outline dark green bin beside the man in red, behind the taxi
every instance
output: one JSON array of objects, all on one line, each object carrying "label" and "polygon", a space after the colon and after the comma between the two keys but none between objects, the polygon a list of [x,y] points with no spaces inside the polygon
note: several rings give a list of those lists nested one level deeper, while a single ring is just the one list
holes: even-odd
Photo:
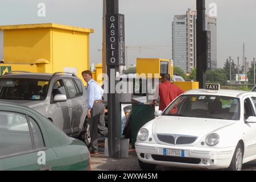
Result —
[{"label": "dark green bin beside the man in red, behind the taxi", "polygon": [[134,146],[139,129],[155,118],[155,106],[133,104],[131,107],[131,144]]}]

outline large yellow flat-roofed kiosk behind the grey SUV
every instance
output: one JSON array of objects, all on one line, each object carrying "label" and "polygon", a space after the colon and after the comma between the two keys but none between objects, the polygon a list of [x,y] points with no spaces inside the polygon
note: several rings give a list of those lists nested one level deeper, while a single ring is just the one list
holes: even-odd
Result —
[{"label": "large yellow flat-roofed kiosk behind the grey SUV", "polygon": [[89,69],[89,35],[93,32],[55,23],[0,26],[1,75],[72,72],[82,78],[82,71]]}]

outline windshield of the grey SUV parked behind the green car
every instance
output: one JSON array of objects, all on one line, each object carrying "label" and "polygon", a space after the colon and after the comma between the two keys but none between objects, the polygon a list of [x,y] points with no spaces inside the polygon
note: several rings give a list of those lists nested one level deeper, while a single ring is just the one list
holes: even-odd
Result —
[{"label": "windshield of the grey SUV parked behind the green car", "polygon": [[47,96],[49,81],[30,78],[0,79],[0,99],[42,101]]}]

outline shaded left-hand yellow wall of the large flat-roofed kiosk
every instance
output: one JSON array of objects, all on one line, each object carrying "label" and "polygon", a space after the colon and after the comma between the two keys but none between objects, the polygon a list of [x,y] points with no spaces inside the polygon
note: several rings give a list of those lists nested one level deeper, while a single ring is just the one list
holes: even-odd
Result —
[{"label": "shaded left-hand yellow wall of the large flat-roofed kiosk", "polygon": [[3,31],[5,63],[33,64],[38,59],[51,61],[50,29]]}]

